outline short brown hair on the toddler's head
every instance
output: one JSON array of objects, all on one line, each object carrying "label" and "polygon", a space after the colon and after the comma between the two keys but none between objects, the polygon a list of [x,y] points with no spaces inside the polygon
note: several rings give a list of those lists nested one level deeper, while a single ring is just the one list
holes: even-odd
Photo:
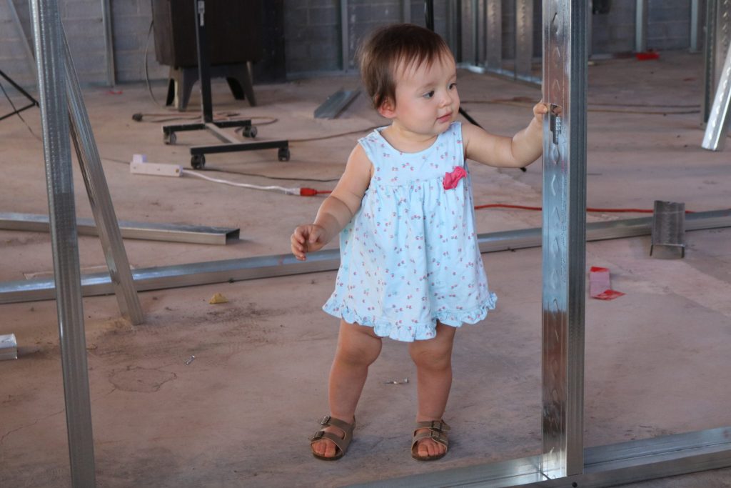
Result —
[{"label": "short brown hair on the toddler's head", "polygon": [[412,23],[397,23],[376,29],[357,50],[360,78],[374,108],[396,100],[395,69],[452,56],[439,34]]}]

